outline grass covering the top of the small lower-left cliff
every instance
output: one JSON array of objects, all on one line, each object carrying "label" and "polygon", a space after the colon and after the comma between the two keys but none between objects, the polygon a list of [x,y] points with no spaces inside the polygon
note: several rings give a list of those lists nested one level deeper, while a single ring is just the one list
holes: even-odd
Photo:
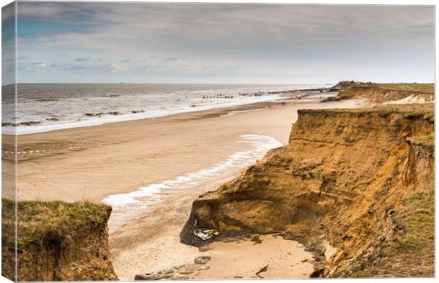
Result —
[{"label": "grass covering the top of the small lower-left cliff", "polygon": [[[13,245],[14,203],[1,200],[2,243]],[[91,202],[42,202],[21,201],[17,203],[18,249],[31,243],[59,243],[71,231],[79,227],[100,226],[106,224],[110,207],[106,204]],[[12,231],[12,232],[11,232]]]}]

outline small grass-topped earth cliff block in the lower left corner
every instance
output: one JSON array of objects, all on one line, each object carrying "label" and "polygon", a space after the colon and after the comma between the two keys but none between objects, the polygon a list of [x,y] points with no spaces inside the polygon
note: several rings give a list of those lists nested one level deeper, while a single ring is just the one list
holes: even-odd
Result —
[{"label": "small grass-topped earth cliff block in the lower left corner", "polygon": [[[17,204],[17,281],[117,280],[110,262],[111,207],[88,202]],[[14,272],[13,202],[2,200],[2,275]]]}]

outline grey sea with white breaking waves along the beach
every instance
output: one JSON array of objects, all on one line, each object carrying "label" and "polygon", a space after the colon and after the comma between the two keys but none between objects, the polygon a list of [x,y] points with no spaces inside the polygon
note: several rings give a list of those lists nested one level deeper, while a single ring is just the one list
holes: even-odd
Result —
[{"label": "grey sea with white breaking waves along the beach", "polygon": [[[54,129],[161,117],[261,101],[324,84],[18,83],[2,87],[2,133]],[[16,129],[14,126],[17,126]]]}]

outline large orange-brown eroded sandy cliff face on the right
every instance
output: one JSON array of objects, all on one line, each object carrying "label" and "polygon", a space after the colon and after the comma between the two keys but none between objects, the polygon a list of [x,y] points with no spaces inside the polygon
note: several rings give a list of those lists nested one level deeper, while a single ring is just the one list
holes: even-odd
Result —
[{"label": "large orange-brown eroded sandy cliff face on the right", "polygon": [[433,105],[300,110],[287,146],[193,202],[182,241],[285,231],[336,248],[315,276],[353,275],[394,236],[401,200],[433,188],[432,135]]}]

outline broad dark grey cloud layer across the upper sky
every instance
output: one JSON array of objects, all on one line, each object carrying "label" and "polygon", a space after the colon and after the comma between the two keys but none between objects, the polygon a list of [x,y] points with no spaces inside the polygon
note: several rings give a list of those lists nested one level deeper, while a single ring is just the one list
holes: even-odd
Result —
[{"label": "broad dark grey cloud layer across the upper sky", "polygon": [[[71,4],[64,13],[59,9],[52,13],[55,18],[60,13],[73,16],[86,6]],[[122,56],[285,60],[346,57],[341,47],[367,54],[370,45],[392,48],[404,40],[412,45],[433,37],[428,7],[106,3],[91,5],[89,11],[93,16],[82,16],[86,21],[108,24],[93,25],[87,36],[72,30],[35,41]]]}]

